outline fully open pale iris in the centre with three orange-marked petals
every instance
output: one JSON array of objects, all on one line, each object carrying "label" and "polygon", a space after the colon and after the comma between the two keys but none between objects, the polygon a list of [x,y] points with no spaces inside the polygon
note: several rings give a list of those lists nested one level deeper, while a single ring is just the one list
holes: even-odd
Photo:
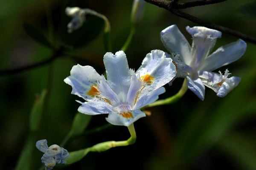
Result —
[{"label": "fully open pale iris in the centre with three orange-marked petals", "polygon": [[97,115],[108,113],[107,121],[113,125],[129,126],[145,116],[140,111],[165,92],[162,86],[176,75],[176,67],[165,52],[153,50],[147,54],[142,66],[134,72],[129,69],[123,51],[104,56],[107,80],[91,66],[75,65],[64,82],[71,85],[71,94],[86,100],[78,111]]}]

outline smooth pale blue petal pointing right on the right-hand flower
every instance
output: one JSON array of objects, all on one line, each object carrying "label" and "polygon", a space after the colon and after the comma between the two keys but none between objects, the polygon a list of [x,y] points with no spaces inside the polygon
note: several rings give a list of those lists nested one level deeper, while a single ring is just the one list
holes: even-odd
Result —
[{"label": "smooth pale blue petal pointing right on the right-hand flower", "polygon": [[236,42],[218,48],[204,60],[199,70],[212,71],[238,60],[244,55],[246,46],[246,42],[239,39]]}]

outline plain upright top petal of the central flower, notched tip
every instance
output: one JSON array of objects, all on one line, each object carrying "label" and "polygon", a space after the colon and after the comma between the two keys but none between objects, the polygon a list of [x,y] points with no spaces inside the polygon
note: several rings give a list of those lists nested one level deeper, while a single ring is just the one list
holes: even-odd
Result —
[{"label": "plain upright top petal of the central flower, notched tip", "polygon": [[106,53],[103,62],[110,88],[117,95],[127,94],[131,85],[131,74],[124,51],[118,51],[115,55],[110,52]]}]

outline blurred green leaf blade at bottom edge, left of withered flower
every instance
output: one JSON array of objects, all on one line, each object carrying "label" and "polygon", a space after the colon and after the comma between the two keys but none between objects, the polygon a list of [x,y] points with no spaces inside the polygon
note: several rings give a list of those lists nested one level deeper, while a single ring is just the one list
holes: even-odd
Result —
[{"label": "blurred green leaf blade at bottom edge, left of withered flower", "polygon": [[35,139],[30,135],[23,147],[15,170],[29,170],[33,150],[35,150]]}]

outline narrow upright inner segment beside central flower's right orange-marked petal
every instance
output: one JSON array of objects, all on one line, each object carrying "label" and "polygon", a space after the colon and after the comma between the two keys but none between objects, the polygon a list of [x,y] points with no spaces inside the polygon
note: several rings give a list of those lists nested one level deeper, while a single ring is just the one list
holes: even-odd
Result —
[{"label": "narrow upright inner segment beside central flower's right orange-marked petal", "polygon": [[133,75],[131,77],[131,86],[127,94],[127,102],[131,105],[131,107],[134,106],[136,96],[139,95],[140,93],[139,91],[141,90],[142,85],[143,85],[143,82],[141,82],[136,75]]}]

